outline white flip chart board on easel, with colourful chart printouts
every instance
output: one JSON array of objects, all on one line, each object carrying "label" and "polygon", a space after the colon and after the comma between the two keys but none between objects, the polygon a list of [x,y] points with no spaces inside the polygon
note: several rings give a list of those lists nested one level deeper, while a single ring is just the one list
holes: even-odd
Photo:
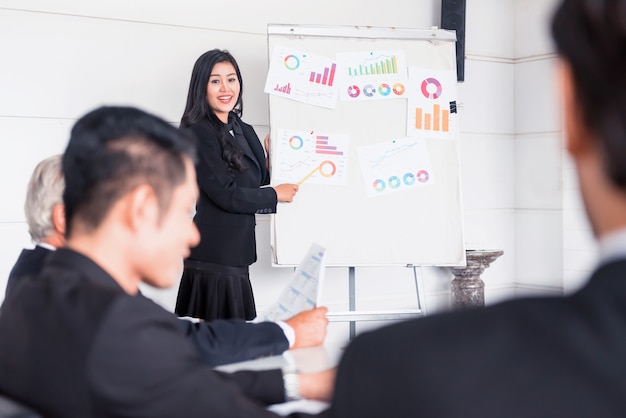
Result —
[{"label": "white flip chart board on easel, with colourful chart printouts", "polygon": [[[287,171],[285,164],[292,168],[298,163],[305,168],[300,177],[293,181],[300,185],[293,203],[279,204],[277,213],[271,218],[273,265],[296,265],[312,242],[320,243],[328,249],[327,266],[347,267],[349,272],[350,312],[331,313],[331,320],[350,321],[353,328],[356,320],[403,319],[422,315],[424,303],[420,267],[465,265],[458,128],[454,124],[456,102],[435,103],[436,100],[433,100],[432,108],[408,109],[410,101],[407,99],[374,100],[374,96],[390,95],[393,91],[391,96],[401,96],[406,92],[408,97],[409,94],[421,91],[430,99],[436,99],[450,91],[450,86],[440,83],[437,77],[445,72],[455,74],[455,33],[438,29],[310,25],[268,25],[267,30],[270,67],[276,58],[276,51],[285,51],[284,57],[278,58],[288,70],[293,70],[293,74],[302,70],[307,59],[313,56],[328,60],[329,64],[324,68],[318,65],[306,69],[312,83],[328,86],[333,82],[339,83],[342,74],[346,76],[346,71],[351,74],[361,71],[342,69],[332,60],[341,54],[367,51],[371,51],[375,57],[387,57],[379,59],[380,65],[386,65],[383,72],[409,72],[409,69],[414,68],[432,72],[432,75],[419,80],[418,84],[389,84],[380,81],[379,77],[376,85],[357,85],[355,82],[349,87],[350,97],[356,97],[357,91],[359,94],[367,92],[372,100],[366,100],[368,97],[361,95],[359,100],[354,101],[324,101],[324,97],[321,97],[324,92],[321,92],[316,93],[320,96],[316,97],[319,102],[311,104],[298,100],[302,97],[297,95],[313,93],[292,88],[290,83],[278,82],[272,87],[274,93],[280,94],[270,92],[268,95],[272,184],[279,184],[281,170],[282,173]],[[406,60],[406,67],[395,67],[400,58]],[[456,77],[454,83],[456,87]],[[436,91],[426,91],[426,88],[432,86],[437,87]],[[341,91],[345,93],[345,89]],[[445,117],[440,116],[444,112]],[[420,119],[423,114],[424,119]],[[432,126],[441,129],[440,122],[442,125],[445,123],[446,130],[449,128],[447,139],[433,134]],[[414,141],[409,144],[404,139],[411,126],[414,131],[421,129],[423,134],[413,135]],[[299,149],[307,139],[301,137],[305,135],[292,135],[290,132],[310,133],[322,147],[342,147],[343,165],[335,167],[343,170],[340,173],[342,181],[324,183],[325,176],[335,174],[329,172],[328,167],[322,167],[325,162],[311,164],[304,158],[295,162],[281,160],[281,151],[285,148],[280,147],[289,144]],[[362,164],[359,153],[364,151],[363,147],[375,149],[380,144],[395,144],[395,141],[401,146],[380,151],[381,158],[388,158],[392,152],[402,157],[409,152],[409,146],[419,146],[421,151],[415,155],[428,155],[432,171],[385,178],[384,181],[388,182],[386,191],[391,190],[389,187],[404,187],[405,184],[407,191],[381,193],[372,197],[372,183],[359,170]],[[338,175],[332,180],[337,178]],[[404,179],[404,183],[401,179]],[[408,185],[423,186],[418,182],[428,183],[427,187],[413,187],[409,190]],[[378,187],[376,182],[373,187]],[[397,312],[356,311],[355,267],[361,266],[412,268],[417,308]]]}]

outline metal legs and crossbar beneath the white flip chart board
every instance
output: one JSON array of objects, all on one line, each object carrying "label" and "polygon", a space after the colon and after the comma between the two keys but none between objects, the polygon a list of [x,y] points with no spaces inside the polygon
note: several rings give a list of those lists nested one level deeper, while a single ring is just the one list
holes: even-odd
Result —
[{"label": "metal legs and crossbar beneath the white flip chart board", "polygon": [[[328,312],[326,315],[331,322],[350,322],[350,340],[356,336],[357,321],[397,321],[411,319],[425,315],[424,303],[424,283],[421,267],[408,264],[407,268],[413,269],[413,280],[415,281],[415,295],[417,299],[416,309],[401,310],[380,310],[380,311],[357,311],[356,310],[356,271],[355,267],[348,267],[348,312]],[[419,271],[418,271],[419,268]]]}]

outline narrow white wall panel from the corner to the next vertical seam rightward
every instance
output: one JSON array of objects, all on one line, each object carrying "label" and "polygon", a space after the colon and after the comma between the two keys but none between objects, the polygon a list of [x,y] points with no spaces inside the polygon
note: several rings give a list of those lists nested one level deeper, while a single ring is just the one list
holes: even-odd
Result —
[{"label": "narrow white wall panel from the corner to the next vertical seam rightward", "polygon": [[559,103],[546,1],[516,4],[516,285],[520,294],[562,293],[562,158]]}]

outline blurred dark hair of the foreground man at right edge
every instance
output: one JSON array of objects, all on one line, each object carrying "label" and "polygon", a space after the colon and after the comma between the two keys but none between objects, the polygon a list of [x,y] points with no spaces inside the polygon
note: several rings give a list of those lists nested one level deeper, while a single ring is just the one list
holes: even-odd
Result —
[{"label": "blurred dark hair of the foreground man at right edge", "polygon": [[552,36],[571,67],[581,117],[603,149],[607,174],[626,189],[626,1],[563,0]]}]

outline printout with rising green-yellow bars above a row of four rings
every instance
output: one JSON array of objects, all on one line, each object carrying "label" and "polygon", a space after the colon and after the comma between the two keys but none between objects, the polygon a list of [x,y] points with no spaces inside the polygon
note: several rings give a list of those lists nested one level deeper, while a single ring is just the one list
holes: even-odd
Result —
[{"label": "printout with rising green-yellow bars above a row of four rings", "polygon": [[406,97],[407,66],[404,51],[343,52],[336,57],[341,100]]}]

